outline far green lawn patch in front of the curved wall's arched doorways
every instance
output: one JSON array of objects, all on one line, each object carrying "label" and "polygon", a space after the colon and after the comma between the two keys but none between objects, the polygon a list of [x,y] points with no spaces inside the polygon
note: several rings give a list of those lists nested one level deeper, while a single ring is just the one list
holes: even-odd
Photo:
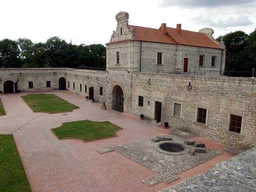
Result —
[{"label": "far green lawn patch in front of the curved wall's arched doorways", "polygon": [[54,94],[30,94],[21,97],[34,112],[70,112],[79,108]]}]

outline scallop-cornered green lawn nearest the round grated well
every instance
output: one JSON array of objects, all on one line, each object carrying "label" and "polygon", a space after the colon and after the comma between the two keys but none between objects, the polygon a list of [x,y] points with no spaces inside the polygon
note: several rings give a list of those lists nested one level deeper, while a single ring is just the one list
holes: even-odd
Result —
[{"label": "scallop-cornered green lawn nearest the round grated well", "polygon": [[58,138],[78,138],[84,141],[116,136],[116,131],[122,128],[108,122],[94,122],[89,120],[63,123],[52,129]]}]

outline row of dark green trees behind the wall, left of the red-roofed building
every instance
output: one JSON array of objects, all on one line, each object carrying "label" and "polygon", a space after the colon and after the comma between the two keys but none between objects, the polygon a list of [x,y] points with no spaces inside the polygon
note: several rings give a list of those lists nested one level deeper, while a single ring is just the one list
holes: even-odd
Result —
[{"label": "row of dark green trees behind the wall, left of the red-roofed building", "polygon": [[33,43],[26,38],[0,41],[0,68],[78,68],[88,66],[106,68],[106,47],[73,45],[58,37],[45,43]]}]

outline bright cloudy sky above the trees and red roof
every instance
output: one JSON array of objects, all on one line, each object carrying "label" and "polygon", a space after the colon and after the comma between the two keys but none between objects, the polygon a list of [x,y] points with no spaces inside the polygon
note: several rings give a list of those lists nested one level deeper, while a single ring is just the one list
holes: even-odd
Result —
[{"label": "bright cloudy sky above the trees and red roof", "polygon": [[256,28],[256,0],[2,0],[0,40],[28,38],[46,42],[58,36],[73,44],[106,44],[116,30],[118,12],[129,24],[159,28],[161,23],[198,32],[209,27],[214,38]]}]

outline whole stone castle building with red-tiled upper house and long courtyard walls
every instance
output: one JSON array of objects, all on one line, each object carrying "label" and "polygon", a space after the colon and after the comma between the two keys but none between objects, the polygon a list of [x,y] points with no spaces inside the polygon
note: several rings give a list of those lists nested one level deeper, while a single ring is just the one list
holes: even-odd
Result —
[{"label": "whole stone castle building with red-tiled upper house and long courtyard walls", "polygon": [[66,89],[106,102],[108,108],[143,114],[155,124],[168,122],[172,128],[237,148],[256,146],[256,80],[221,75],[224,44],[212,38],[213,31],[130,26],[128,16],[116,15],[106,71],[0,69],[0,92]]}]

